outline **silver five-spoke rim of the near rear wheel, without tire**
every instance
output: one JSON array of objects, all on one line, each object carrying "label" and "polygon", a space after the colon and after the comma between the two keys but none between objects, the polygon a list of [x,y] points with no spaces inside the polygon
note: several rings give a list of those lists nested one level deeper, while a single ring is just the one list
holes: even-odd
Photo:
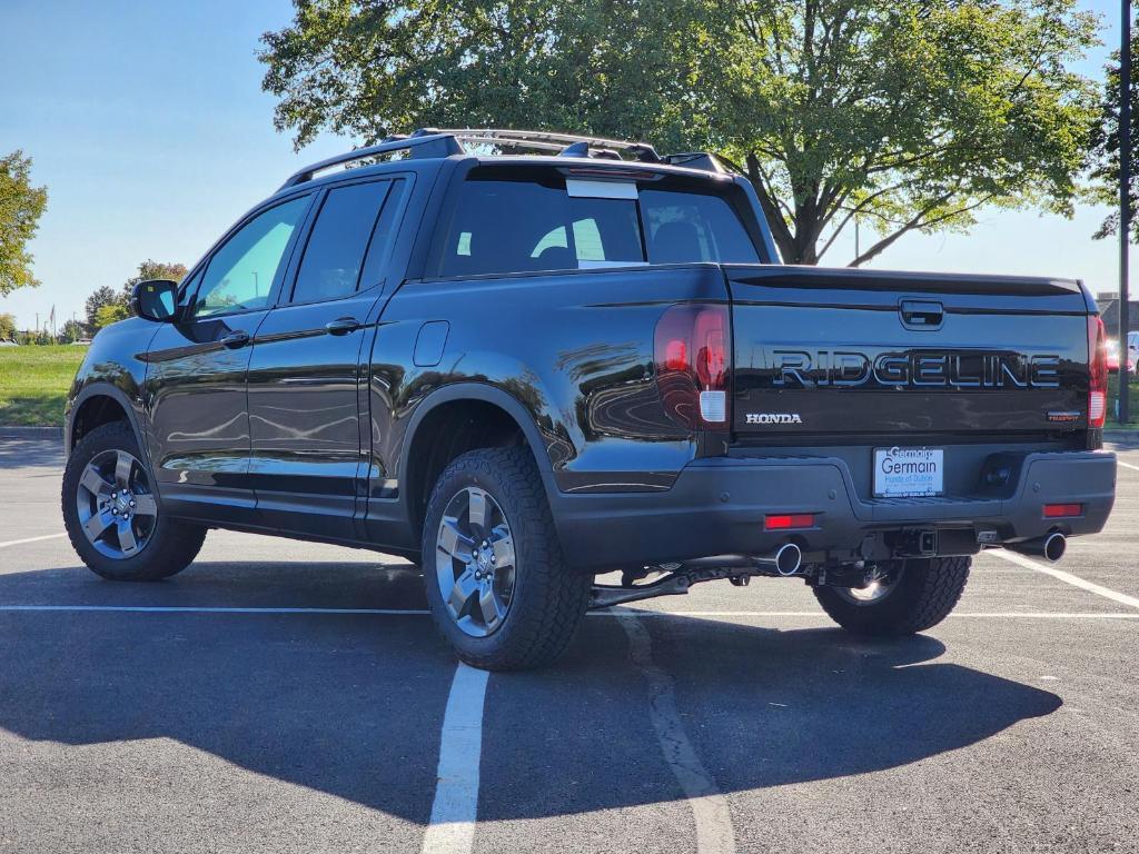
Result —
[{"label": "silver five-spoke rim of the near rear wheel, without tire", "polygon": [[443,606],[466,634],[485,638],[506,622],[517,578],[514,536],[486,490],[467,486],[448,503],[435,536],[435,574]]}]

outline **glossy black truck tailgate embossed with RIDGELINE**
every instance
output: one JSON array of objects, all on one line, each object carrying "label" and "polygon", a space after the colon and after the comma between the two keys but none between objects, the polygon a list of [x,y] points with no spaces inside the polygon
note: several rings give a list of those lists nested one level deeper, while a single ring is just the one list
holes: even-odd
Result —
[{"label": "glossy black truck tailgate embossed with RIDGELINE", "polygon": [[1089,305],[1074,281],[724,272],[740,438],[920,444],[923,434],[1016,441],[1087,429]]}]

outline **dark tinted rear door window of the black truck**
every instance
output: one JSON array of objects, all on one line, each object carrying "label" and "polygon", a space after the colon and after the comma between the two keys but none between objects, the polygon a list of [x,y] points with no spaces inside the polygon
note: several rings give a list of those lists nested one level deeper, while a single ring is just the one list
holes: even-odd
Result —
[{"label": "dark tinted rear door window of the black truck", "polygon": [[304,249],[292,302],[319,303],[357,291],[368,248],[382,239],[376,227],[390,188],[391,181],[369,181],[328,191]]}]

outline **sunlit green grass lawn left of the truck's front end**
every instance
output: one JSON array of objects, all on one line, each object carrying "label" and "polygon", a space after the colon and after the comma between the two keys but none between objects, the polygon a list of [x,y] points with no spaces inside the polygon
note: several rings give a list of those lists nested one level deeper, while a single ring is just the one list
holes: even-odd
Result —
[{"label": "sunlit green grass lawn left of the truck's front end", "polygon": [[64,401],[87,347],[0,347],[0,425],[63,427]]}]

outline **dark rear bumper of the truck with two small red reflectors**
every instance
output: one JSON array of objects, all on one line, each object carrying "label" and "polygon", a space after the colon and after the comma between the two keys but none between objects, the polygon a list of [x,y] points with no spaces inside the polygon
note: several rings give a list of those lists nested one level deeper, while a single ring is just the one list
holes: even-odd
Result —
[{"label": "dark rear bumper of the truck with two small red reflectors", "polygon": [[[567,561],[581,568],[645,566],[714,555],[767,555],[796,542],[804,563],[885,559],[907,531],[935,529],[940,555],[1015,543],[1060,531],[1100,531],[1115,501],[1115,454],[1029,453],[1015,487],[994,498],[869,501],[836,458],[710,458],[661,492],[551,496]],[[1046,503],[1079,503],[1073,518],[1046,519]],[[813,514],[814,526],[767,532],[768,514]]]}]

